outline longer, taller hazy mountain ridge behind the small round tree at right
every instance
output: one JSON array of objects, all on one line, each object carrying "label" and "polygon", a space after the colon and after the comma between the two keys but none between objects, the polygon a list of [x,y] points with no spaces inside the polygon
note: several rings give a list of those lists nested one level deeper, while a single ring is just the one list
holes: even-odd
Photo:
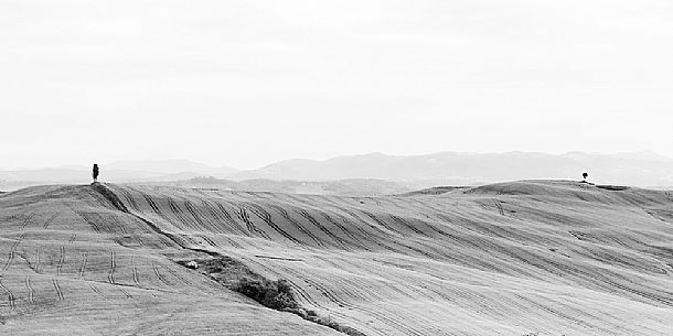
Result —
[{"label": "longer, taller hazy mountain ridge behind the small round tree at right", "polygon": [[637,186],[673,185],[673,160],[651,152],[613,155],[570,152],[562,155],[442,152],[426,155],[338,156],[325,161],[288,160],[231,175],[231,180],[332,181],[376,178],[387,181],[429,180],[449,184],[476,184],[524,178],[590,180]]}]

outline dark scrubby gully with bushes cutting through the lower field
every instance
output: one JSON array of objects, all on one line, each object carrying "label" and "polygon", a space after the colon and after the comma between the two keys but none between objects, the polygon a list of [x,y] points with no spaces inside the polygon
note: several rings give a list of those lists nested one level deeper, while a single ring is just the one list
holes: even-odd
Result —
[{"label": "dark scrubby gully with bushes cutting through the lower field", "polygon": [[351,336],[366,336],[364,333],[339,324],[330,317],[319,316],[314,311],[301,307],[295,290],[284,279],[269,280],[250,270],[245,263],[213,251],[191,249],[207,253],[213,258],[177,260],[178,264],[211,278],[223,286],[236,291],[257,303],[280,312],[292,313],[306,321],[317,323]]}]

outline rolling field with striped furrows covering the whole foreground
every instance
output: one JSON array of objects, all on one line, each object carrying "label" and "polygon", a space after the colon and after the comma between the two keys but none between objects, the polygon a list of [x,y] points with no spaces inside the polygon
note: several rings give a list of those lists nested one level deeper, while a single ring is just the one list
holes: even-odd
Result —
[{"label": "rolling field with striped furrows covering the whole foreground", "polygon": [[248,277],[353,335],[673,335],[673,193],[0,194],[1,335],[345,335],[232,290]]}]

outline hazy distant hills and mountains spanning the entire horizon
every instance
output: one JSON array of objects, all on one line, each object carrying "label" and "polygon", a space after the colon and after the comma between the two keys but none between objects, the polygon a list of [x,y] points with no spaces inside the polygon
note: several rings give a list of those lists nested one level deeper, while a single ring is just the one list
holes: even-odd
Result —
[{"label": "hazy distant hills and mountains spanning the entire horizon", "polygon": [[[383,180],[421,185],[474,185],[530,180],[580,180],[581,173],[599,183],[634,186],[673,186],[673,159],[653,152],[599,154],[569,152],[457,153],[425,155],[338,156],[324,161],[295,159],[257,170],[238,171],[188,160],[118,161],[100,164],[100,178],[107,182],[175,182],[213,176],[229,181],[339,181]],[[40,170],[0,171],[0,189],[35,184],[87,183],[90,167],[58,166]]]}]

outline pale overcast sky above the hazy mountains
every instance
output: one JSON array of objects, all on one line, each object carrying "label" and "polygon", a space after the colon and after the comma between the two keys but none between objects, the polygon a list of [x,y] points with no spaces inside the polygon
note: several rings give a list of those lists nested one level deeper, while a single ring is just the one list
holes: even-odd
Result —
[{"label": "pale overcast sky above the hazy mountains", "polygon": [[670,0],[0,1],[0,167],[673,156]]}]

